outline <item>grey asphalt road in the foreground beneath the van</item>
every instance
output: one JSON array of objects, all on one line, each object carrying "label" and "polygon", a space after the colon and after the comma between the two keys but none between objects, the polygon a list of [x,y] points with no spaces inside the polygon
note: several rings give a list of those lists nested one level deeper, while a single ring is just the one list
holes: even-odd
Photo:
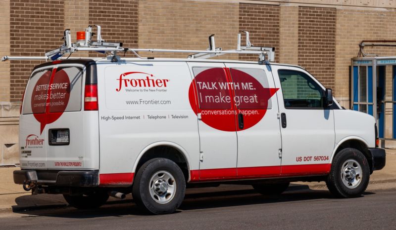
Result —
[{"label": "grey asphalt road in the foreground beneath the van", "polygon": [[[228,188],[230,189],[230,188]],[[187,194],[170,215],[144,215],[132,202],[96,210],[71,207],[0,214],[2,229],[395,229],[396,191],[333,198],[326,190],[292,190],[278,196],[251,189]]]}]

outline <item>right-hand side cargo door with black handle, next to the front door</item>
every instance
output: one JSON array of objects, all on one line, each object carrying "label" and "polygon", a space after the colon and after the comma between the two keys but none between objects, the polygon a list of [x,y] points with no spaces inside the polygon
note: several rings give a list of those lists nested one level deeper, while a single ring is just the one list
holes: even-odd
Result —
[{"label": "right-hand side cargo door with black handle, next to the front door", "polygon": [[278,102],[273,77],[265,65],[226,63],[237,119],[238,177],[265,177],[281,172]]}]

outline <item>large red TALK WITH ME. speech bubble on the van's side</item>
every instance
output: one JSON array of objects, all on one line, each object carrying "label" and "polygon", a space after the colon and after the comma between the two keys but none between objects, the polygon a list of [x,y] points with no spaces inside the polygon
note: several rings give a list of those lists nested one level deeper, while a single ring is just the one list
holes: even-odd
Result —
[{"label": "large red TALK WITH ME. speech bubble on the van's side", "polygon": [[[224,74],[232,82],[223,79]],[[205,124],[222,131],[240,131],[236,125],[238,114],[245,116],[243,130],[254,126],[264,117],[268,100],[278,89],[265,88],[256,78],[237,69],[210,68],[191,82],[189,100]]]}]

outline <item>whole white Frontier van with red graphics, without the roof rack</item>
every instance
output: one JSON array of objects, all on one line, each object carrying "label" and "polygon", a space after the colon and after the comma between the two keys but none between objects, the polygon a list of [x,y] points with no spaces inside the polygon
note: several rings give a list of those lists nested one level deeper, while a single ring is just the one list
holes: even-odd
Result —
[{"label": "whole white Frontier van with red graphics, without the roof rack", "polygon": [[60,59],[29,77],[14,182],[77,208],[132,192],[154,214],[174,212],[186,187],[221,183],[279,194],[326,181],[335,196],[356,197],[385,166],[376,130],[298,66]]}]

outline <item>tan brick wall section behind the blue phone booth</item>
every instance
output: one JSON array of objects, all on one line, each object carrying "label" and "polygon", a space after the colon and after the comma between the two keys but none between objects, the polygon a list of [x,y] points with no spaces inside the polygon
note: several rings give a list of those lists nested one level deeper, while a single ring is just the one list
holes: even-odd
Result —
[{"label": "tan brick wall section behind the blue phone booth", "polygon": [[[342,105],[349,108],[349,73],[350,59],[356,57],[359,42],[362,40],[395,40],[396,12],[376,10],[337,9],[336,38],[336,97]],[[396,47],[365,47],[365,53],[379,56],[395,56]],[[392,93],[391,68],[386,69],[387,98]],[[387,123],[388,124],[388,123]]]}]

